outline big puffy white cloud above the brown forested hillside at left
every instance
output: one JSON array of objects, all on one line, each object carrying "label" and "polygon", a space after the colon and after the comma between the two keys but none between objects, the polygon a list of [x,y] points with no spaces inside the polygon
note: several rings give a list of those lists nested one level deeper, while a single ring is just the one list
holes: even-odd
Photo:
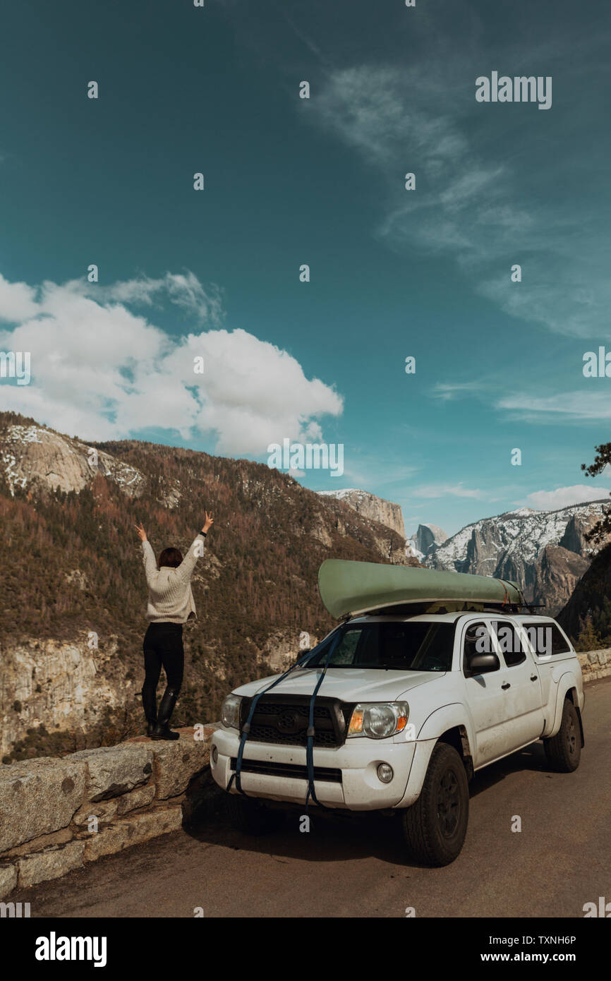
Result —
[{"label": "big puffy white cloud above the brown forested hillside at left", "polygon": [[[124,439],[145,428],[182,439],[213,434],[220,452],[261,457],[270,442],[322,439],[321,418],[342,412],[335,390],[307,379],[274,344],[243,330],[169,336],[127,309],[129,302],[146,302],[147,294],[161,302],[165,290],[170,302],[179,296],[181,305],[192,303],[203,315],[206,294],[193,274],[115,284],[90,295],[81,283],[44,283],[38,290],[17,284],[17,291],[3,284],[0,319],[21,312],[24,320],[0,332],[0,347],[29,351],[32,379],[28,386],[0,387],[2,408],[54,429],[92,440]],[[209,309],[208,319],[221,313]],[[204,374],[194,374],[193,359],[202,356]]]}]

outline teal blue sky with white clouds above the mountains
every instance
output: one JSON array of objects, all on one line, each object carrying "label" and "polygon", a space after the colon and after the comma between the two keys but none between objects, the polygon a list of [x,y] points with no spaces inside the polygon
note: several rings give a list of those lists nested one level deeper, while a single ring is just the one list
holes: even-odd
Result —
[{"label": "teal blue sky with white clouds above the mountains", "polygon": [[[260,461],[342,443],[340,478],[298,479],[409,532],[607,495],[581,472],[611,418],[583,375],[611,350],[607,4],[65,0],[3,27],[0,349],[31,352],[3,408]],[[492,71],[552,77],[551,108],[478,103]]]}]

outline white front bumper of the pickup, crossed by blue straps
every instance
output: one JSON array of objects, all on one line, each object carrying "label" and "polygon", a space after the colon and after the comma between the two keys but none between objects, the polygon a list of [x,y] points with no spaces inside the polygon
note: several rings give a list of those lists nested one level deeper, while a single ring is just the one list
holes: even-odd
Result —
[{"label": "white front bumper of the pickup, crossed by blue straps", "polygon": [[[415,743],[358,738],[335,749],[314,749],[316,796],[328,807],[378,810],[394,807],[405,796]],[[216,749],[216,752],[214,751]],[[210,768],[219,787],[227,790],[239,749],[235,729],[217,729],[211,740]],[[216,756],[216,759],[215,759]],[[381,763],[392,767],[393,776],[382,783]],[[246,741],[242,757],[242,790],[251,797],[305,803],[308,792],[306,750]],[[231,794],[236,794],[235,780]]]}]

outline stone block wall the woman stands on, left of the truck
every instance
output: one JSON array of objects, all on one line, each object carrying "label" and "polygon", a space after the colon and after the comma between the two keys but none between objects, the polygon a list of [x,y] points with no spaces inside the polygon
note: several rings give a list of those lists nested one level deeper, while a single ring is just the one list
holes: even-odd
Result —
[{"label": "stone block wall the woman stands on, left of the truck", "polygon": [[0,899],[188,825],[216,786],[218,726],[0,765]]}]

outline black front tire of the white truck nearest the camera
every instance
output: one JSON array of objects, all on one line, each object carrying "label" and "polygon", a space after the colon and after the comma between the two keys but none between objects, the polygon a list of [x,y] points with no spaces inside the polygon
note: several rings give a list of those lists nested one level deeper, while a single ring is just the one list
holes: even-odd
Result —
[{"label": "black front tire of the white truck nearest the camera", "polygon": [[401,815],[410,854],[423,865],[449,865],[469,823],[469,782],[456,749],[437,743],[420,797]]}]

